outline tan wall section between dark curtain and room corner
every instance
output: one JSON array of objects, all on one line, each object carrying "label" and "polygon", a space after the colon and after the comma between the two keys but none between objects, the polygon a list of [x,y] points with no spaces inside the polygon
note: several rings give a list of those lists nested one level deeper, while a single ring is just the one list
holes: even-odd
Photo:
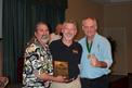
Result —
[{"label": "tan wall section between dark curtain and room corner", "polygon": [[103,5],[88,2],[89,0],[68,0],[68,9],[66,11],[66,20],[77,21],[79,24],[78,38],[82,37],[81,21],[88,16],[96,17],[100,22],[100,27],[103,27]]}]

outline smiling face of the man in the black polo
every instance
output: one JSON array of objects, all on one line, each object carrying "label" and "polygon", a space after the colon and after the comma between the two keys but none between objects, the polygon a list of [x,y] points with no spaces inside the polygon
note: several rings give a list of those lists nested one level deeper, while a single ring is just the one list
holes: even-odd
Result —
[{"label": "smiling face of the man in the black polo", "polygon": [[72,40],[77,34],[76,25],[74,23],[64,23],[62,33],[65,40]]}]

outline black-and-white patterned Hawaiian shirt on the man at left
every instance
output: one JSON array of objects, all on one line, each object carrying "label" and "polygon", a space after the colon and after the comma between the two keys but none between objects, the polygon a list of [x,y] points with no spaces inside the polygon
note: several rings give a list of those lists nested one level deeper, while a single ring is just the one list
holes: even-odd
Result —
[{"label": "black-and-white patterned Hawaiian shirt on the man at left", "polygon": [[23,68],[24,88],[45,88],[44,81],[37,78],[35,74],[53,74],[52,55],[48,47],[42,47],[35,38],[25,50]]}]

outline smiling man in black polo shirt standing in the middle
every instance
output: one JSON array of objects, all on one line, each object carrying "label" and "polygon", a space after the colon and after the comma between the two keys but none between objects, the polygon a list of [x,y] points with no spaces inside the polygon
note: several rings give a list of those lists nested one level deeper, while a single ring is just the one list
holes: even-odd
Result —
[{"label": "smiling man in black polo shirt standing in the middle", "polygon": [[50,43],[50,50],[53,61],[68,63],[68,78],[64,83],[53,81],[50,88],[81,88],[78,75],[82,48],[74,40],[77,34],[76,24],[74,22],[65,22],[62,34],[62,39]]}]

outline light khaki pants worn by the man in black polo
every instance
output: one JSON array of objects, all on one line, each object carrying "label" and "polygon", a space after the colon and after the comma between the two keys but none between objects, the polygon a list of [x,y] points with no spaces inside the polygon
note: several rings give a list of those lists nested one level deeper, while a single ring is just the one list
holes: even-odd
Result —
[{"label": "light khaki pants worn by the man in black polo", "polygon": [[77,78],[71,83],[67,83],[67,84],[53,81],[50,88],[81,88],[80,78]]}]

